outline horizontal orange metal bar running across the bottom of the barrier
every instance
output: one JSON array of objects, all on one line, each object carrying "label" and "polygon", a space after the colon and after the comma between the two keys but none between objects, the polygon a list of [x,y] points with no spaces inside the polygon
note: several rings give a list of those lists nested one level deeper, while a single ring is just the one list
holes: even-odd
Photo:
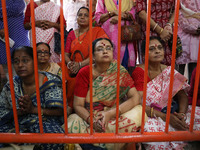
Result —
[{"label": "horizontal orange metal bar running across the bottom of the barrier", "polygon": [[0,143],[132,143],[161,141],[200,141],[200,131],[144,132],[137,133],[1,133]]}]

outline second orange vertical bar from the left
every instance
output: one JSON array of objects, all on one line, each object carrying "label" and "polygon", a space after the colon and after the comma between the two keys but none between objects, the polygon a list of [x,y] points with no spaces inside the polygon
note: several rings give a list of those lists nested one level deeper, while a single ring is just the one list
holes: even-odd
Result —
[{"label": "second orange vertical bar from the left", "polygon": [[34,73],[35,73],[35,87],[37,97],[37,108],[40,125],[40,133],[43,133],[42,115],[41,115],[41,103],[40,103],[40,90],[39,90],[39,78],[38,78],[38,63],[37,63],[37,50],[36,50],[36,34],[35,34],[35,14],[34,14],[34,1],[30,0],[31,6],[31,26],[32,26],[32,43],[33,43],[33,58],[34,58]]}]

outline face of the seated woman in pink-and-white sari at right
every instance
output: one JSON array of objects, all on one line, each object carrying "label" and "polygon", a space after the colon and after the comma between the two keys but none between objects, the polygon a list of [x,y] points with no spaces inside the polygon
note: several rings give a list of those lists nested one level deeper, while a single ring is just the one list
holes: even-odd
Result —
[{"label": "face of the seated woman in pink-and-white sari at right", "polygon": [[154,39],[149,42],[149,61],[162,62],[164,59],[164,47],[162,44]]}]

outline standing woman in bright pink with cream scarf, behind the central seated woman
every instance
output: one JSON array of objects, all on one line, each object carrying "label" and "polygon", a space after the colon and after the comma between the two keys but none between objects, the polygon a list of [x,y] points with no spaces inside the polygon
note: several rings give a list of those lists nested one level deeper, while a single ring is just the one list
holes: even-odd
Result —
[{"label": "standing woman in bright pink with cream scarf, behind the central seated woman", "polygon": [[[108,37],[113,42],[114,59],[117,59],[118,47],[118,0],[98,0],[95,12],[95,19],[99,25],[105,30]],[[133,1],[122,0],[122,23],[125,21],[130,24],[131,16],[135,17],[135,8]],[[134,67],[136,64],[136,52],[133,42],[121,43],[120,62],[126,69]]]}]

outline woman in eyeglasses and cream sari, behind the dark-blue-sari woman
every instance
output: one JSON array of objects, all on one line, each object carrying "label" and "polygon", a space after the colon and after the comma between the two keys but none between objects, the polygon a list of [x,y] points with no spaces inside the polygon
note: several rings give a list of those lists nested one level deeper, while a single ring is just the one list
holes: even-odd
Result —
[{"label": "woman in eyeglasses and cream sari, behind the dark-blue-sari woman", "polygon": [[38,70],[46,71],[62,77],[62,70],[57,63],[50,62],[50,46],[47,43],[39,42],[36,45],[38,56]]}]

